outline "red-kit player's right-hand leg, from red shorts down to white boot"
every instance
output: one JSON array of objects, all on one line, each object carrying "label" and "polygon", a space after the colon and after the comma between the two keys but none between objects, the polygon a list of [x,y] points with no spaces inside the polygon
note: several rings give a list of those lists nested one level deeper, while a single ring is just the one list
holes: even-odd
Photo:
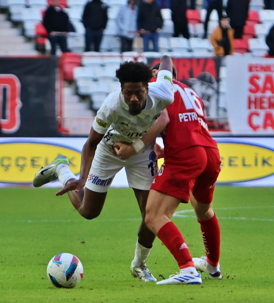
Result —
[{"label": "red-kit player's right-hand leg, from red shorts down to white boot", "polygon": [[211,204],[221,161],[217,149],[205,148],[205,150],[208,164],[193,186],[190,201],[200,223],[206,257],[193,258],[193,261],[196,269],[206,272],[209,279],[221,279],[220,225]]}]

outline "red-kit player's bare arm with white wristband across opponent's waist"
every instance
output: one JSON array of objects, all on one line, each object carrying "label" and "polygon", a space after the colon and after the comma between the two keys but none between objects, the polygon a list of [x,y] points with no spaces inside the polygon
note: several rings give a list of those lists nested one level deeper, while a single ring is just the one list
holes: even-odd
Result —
[{"label": "red-kit player's bare arm with white wristband across opponent's waist", "polygon": [[160,117],[153,124],[151,128],[142,136],[141,139],[130,143],[114,142],[113,148],[117,153],[118,157],[122,160],[128,159],[129,157],[138,153],[145,145],[155,140],[158,135],[166,128],[170,119],[167,110],[163,110]]}]

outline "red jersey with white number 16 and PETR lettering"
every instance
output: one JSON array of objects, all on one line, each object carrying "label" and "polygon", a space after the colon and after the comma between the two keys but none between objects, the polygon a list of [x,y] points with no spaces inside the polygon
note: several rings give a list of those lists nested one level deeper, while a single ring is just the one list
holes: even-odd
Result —
[{"label": "red jersey with white number 16 and PETR lettering", "polygon": [[180,162],[180,151],[190,146],[218,148],[208,131],[202,99],[187,85],[173,83],[174,102],[167,106],[170,123],[162,134],[165,163]]}]

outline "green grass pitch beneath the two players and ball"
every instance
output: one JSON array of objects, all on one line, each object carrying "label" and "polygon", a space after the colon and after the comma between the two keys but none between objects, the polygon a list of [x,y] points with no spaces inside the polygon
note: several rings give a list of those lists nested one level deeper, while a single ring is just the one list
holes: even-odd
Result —
[{"label": "green grass pitch beneath the two players and ball", "polygon": [[[202,285],[155,285],[133,278],[140,214],[132,189],[109,190],[101,215],[82,218],[66,195],[52,188],[1,188],[1,303],[268,303],[274,302],[274,188],[217,186],[213,207],[221,226],[222,280]],[[191,255],[204,254],[191,205],[180,205],[174,223]],[[57,289],[46,267],[58,253],[75,254],[84,279],[74,289]],[[159,280],[178,271],[156,238],[147,260]]]}]

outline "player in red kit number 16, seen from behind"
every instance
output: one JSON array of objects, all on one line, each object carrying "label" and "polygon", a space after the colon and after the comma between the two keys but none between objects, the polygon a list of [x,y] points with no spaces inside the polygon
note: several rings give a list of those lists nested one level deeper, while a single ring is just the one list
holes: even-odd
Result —
[{"label": "player in red kit number 16, seen from behind", "polygon": [[[176,70],[173,76],[176,79]],[[201,284],[197,270],[206,272],[209,279],[222,278],[220,226],[211,206],[221,161],[217,142],[208,131],[202,99],[187,85],[176,80],[173,83],[174,102],[139,139],[139,144],[116,142],[114,150],[125,159],[142,152],[142,146],[163,131],[165,161],[150,188],[145,223],[174,256],[180,273],[156,284]],[[201,258],[191,258],[184,237],[170,220],[178,205],[189,200],[206,250]]]}]

